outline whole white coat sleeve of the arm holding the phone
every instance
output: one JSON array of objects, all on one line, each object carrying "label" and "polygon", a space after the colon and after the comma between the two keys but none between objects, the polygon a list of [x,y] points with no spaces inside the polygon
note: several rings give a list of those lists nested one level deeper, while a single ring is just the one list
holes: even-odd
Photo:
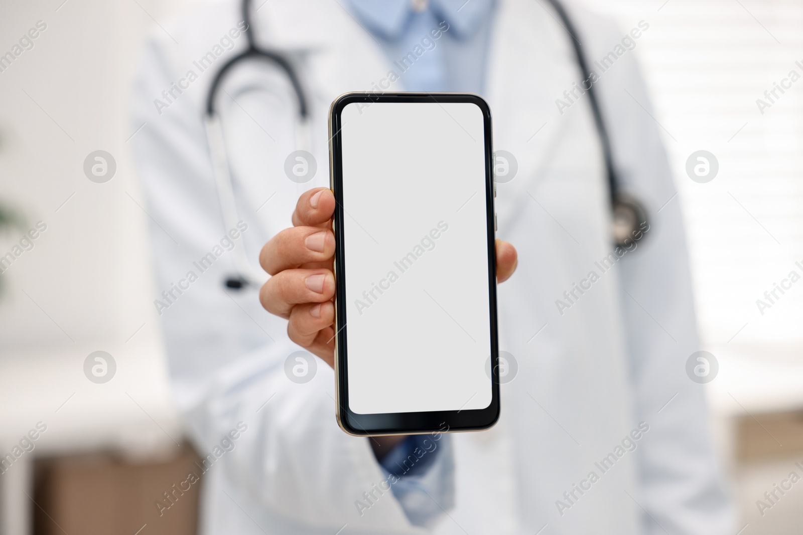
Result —
[{"label": "whole white coat sleeve of the arm holding the phone", "polygon": [[[171,28],[181,47],[191,31],[198,33],[187,26],[187,34]],[[416,533],[392,493],[381,491],[386,476],[369,441],[336,424],[332,369],[309,355],[316,375],[292,382],[285,361],[300,347],[287,339],[286,322],[269,318],[255,291],[229,293],[222,285],[233,264],[226,246],[219,255],[215,249],[228,229],[202,126],[211,76],[169,102],[161,95],[191,64],[181,47],[159,37],[147,43],[132,99],[132,126],[142,127],[132,145],[145,191],[141,205],[153,231],[157,291],[172,297],[154,296],[190,438],[252,516],[269,510],[328,533],[347,523],[349,533]],[[259,229],[250,228],[235,246],[259,243],[258,236]],[[196,264],[206,253],[213,263],[200,270]],[[191,282],[190,271],[196,276]],[[185,289],[171,294],[181,280]],[[228,498],[218,492],[218,500]],[[222,505],[206,501],[204,507]]]}]

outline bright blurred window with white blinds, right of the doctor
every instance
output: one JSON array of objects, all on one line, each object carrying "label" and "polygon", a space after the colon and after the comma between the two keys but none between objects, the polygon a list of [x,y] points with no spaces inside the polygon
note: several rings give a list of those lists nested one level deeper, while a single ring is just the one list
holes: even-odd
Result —
[{"label": "bright blurred window with white blinds, right of the doctor", "polygon": [[[764,314],[756,306],[790,271],[803,275],[803,80],[764,114],[756,105],[789,71],[803,75],[803,2],[581,1],[624,29],[650,24],[634,53],[686,218],[700,349],[719,359],[716,410],[803,406],[803,281]],[[698,150],[719,161],[703,184],[686,172]]]}]

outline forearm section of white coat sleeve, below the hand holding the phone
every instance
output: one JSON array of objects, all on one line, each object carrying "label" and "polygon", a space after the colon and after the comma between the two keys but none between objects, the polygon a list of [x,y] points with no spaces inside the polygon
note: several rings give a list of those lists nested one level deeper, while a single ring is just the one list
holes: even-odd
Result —
[{"label": "forearm section of white coat sleeve, below the hand holding the phone", "polygon": [[247,431],[221,457],[238,501],[332,533],[344,524],[357,533],[415,533],[369,441],[337,427],[332,369],[318,360],[312,381],[291,382],[284,355],[298,348],[283,343],[285,351],[258,350],[219,371],[187,411],[202,456],[242,422]]}]

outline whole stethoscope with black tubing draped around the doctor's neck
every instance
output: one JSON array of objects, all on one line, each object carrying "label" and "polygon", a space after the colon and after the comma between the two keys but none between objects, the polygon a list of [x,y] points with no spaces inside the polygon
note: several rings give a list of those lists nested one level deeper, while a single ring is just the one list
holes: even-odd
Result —
[{"label": "whole stethoscope with black tubing draped around the doctor's neck", "polygon": [[[580,67],[583,75],[588,78],[590,75],[588,64],[585,62],[585,56],[581,51],[580,43],[577,39],[574,39],[574,35],[577,34],[577,31],[569,18],[569,14],[566,13],[566,10],[559,0],[547,1],[552,5],[560,17],[560,20],[563,22],[565,29],[569,32],[570,37],[572,37],[571,40],[577,59],[577,65]],[[308,101],[304,94],[304,88],[301,87],[299,77],[296,75],[296,71],[282,55],[257,47],[254,31],[251,29],[251,0],[243,0],[242,13],[243,22],[245,22],[246,25],[243,33],[246,34],[248,48],[246,51],[243,51],[226,62],[215,75],[212,85],[210,86],[209,95],[206,97],[206,116],[204,117],[206,139],[210,146],[214,179],[218,188],[220,209],[226,229],[235,228],[238,216],[237,205],[234,200],[234,186],[231,182],[229,164],[226,157],[226,142],[223,139],[220,116],[218,116],[217,111],[215,111],[215,99],[218,96],[218,87],[222,79],[233,67],[239,63],[243,63],[246,59],[259,59],[272,63],[284,71],[284,74],[287,75],[287,79],[290,80],[293,91],[296,92],[296,100],[298,101],[299,107],[296,145],[302,148],[309,148],[311,146]],[[608,178],[610,202],[613,210],[613,239],[616,245],[623,247],[634,241],[634,236],[641,236],[638,231],[646,227],[646,210],[639,201],[622,192],[619,188],[617,172],[613,167],[613,150],[611,149],[608,130],[602,118],[599,101],[597,100],[597,93],[593,83],[586,92],[589,94],[589,103],[591,104],[591,111],[594,116],[594,124],[597,127],[597,135],[600,139],[603,160],[605,161],[605,173]],[[238,290],[245,286],[254,286],[255,288],[262,286],[262,283],[267,279],[267,275],[253,268],[251,262],[248,261],[245,247],[235,247],[232,253],[234,254],[234,268],[238,273],[226,278],[224,282],[225,286],[233,290]]]}]

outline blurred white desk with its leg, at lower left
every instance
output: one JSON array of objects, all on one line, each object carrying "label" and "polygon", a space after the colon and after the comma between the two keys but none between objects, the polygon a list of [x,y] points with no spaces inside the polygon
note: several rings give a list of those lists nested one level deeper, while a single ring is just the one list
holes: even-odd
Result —
[{"label": "blurred white desk with its leg, at lower left", "polygon": [[[116,361],[115,375],[103,384],[84,375],[84,360],[99,350]],[[12,452],[39,422],[47,429],[31,440],[34,449],[0,475],[0,535],[31,533],[31,467],[37,457],[98,451],[119,452],[132,460],[175,455],[181,427],[157,337],[138,334],[107,347],[4,351],[0,455]]]}]

